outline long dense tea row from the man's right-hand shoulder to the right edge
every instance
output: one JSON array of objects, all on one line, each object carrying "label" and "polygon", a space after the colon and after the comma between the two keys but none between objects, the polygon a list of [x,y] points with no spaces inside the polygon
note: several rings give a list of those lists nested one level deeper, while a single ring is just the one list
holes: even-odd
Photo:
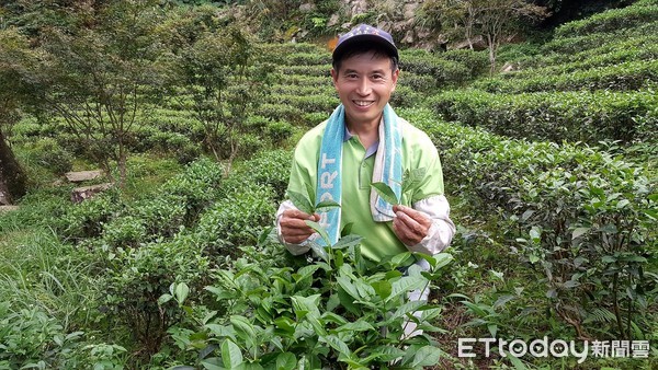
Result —
[{"label": "long dense tea row from the man's right-hand shoulder to the right edge", "polygon": [[[545,274],[555,314],[585,337],[648,335],[645,293],[658,281],[640,271],[656,268],[655,174],[578,144],[509,140],[406,114],[435,140],[446,178],[478,199],[479,217],[509,220],[504,238]],[[594,320],[594,310],[615,320]]]}]

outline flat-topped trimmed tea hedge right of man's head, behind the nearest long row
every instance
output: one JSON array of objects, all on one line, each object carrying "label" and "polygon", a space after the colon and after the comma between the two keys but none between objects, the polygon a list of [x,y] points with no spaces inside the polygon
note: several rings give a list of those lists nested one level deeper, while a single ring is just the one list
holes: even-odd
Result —
[{"label": "flat-topped trimmed tea hedge right of man's head, behind the nearest long row", "polygon": [[430,102],[447,120],[530,140],[651,141],[655,129],[648,128],[658,125],[658,97],[653,90],[517,95],[462,90],[439,94]]}]

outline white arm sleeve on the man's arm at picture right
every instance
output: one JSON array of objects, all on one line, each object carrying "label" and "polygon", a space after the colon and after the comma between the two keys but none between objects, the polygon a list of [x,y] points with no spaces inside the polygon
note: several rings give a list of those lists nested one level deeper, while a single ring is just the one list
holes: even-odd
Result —
[{"label": "white arm sleeve on the man's arm at picture right", "polygon": [[450,219],[450,205],[445,196],[435,195],[421,199],[413,204],[413,209],[426,213],[432,220],[432,226],[420,243],[407,246],[409,251],[434,255],[445,250],[455,234],[455,224]]}]

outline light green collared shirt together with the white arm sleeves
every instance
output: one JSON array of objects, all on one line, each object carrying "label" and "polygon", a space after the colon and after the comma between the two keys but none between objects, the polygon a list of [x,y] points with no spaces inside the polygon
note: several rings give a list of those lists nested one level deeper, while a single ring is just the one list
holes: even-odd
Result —
[{"label": "light green collared shirt together with the white arm sleeves", "polygon": [[[426,175],[410,192],[402,194],[401,204],[424,212],[431,220],[428,235],[416,245],[405,245],[395,235],[392,222],[375,222],[370,210],[370,193],[374,170],[377,143],[370,148],[361,144],[358,136],[345,128],[342,157],[342,204],[341,229],[352,223],[352,232],[363,236],[362,253],[368,259],[379,262],[405,251],[421,252],[433,255],[445,248],[454,234],[455,227],[450,219],[450,206],[443,195],[443,174],[436,148],[429,137],[400,119],[402,127],[402,171],[423,167]],[[321,138],[326,127],[322,123],[309,130],[297,143],[288,189],[306,194],[307,186],[316,188],[317,164]],[[315,199],[315,194],[309,195]],[[295,255],[309,251],[308,243],[317,235],[302,244],[285,243],[281,235],[280,220],[283,212],[294,209],[294,205],[284,201],[276,213],[279,236],[288,251]]]}]

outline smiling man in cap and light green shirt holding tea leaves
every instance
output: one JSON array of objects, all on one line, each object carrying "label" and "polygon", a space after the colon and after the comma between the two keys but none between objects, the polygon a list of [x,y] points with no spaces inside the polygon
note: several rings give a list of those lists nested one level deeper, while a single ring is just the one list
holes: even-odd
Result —
[{"label": "smiling man in cap and light green shirt holding tea leaves", "polygon": [[[455,227],[436,148],[388,105],[398,59],[393,37],[383,30],[361,24],[339,37],[331,78],[342,104],[299,140],[288,192],[306,194],[310,184],[311,200],[331,199],[341,207],[308,215],[284,201],[276,227],[292,254],[321,241],[305,220],[324,226],[332,243],[351,223],[352,233],[363,236],[362,254],[374,263],[406,251],[434,255],[450,244]],[[418,177],[410,188],[402,185],[405,173]],[[377,182],[387,184],[400,205],[383,200],[371,186]]]}]

